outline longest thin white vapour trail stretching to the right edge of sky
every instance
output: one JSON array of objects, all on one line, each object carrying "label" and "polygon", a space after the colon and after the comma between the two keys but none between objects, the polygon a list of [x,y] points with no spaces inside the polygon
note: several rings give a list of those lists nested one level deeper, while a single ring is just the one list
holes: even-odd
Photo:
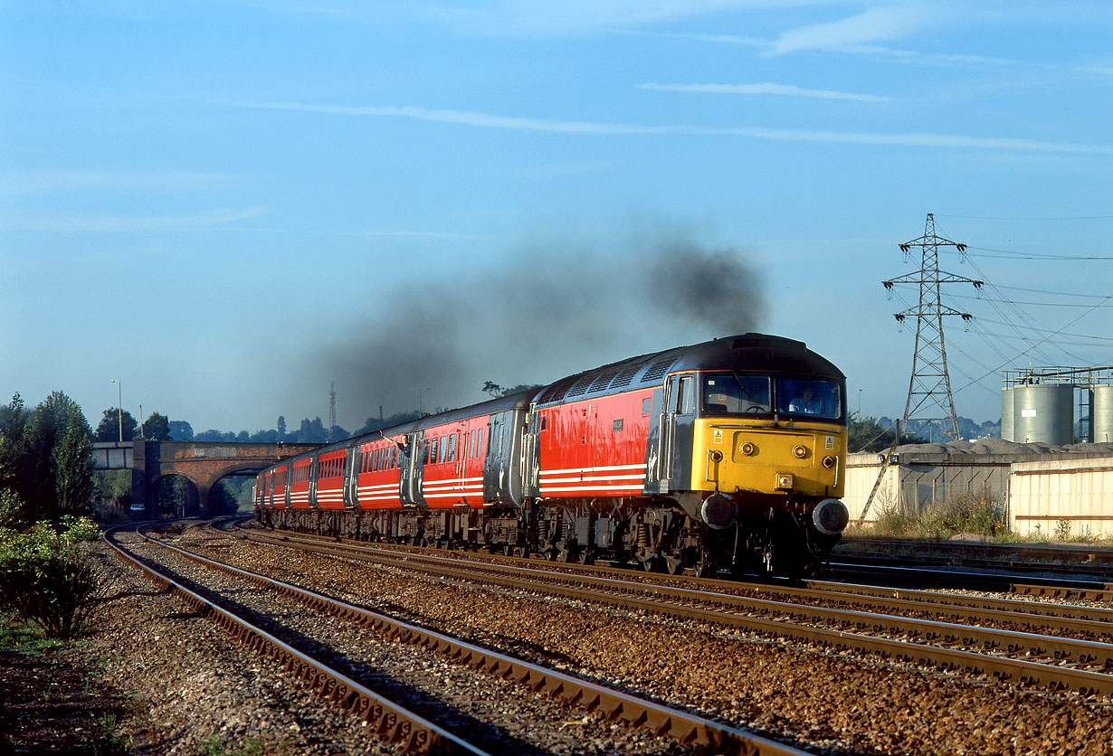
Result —
[{"label": "longest thin white vapour trail stretching to the right edge of sky", "polygon": [[824,142],[843,145],[887,145],[894,147],[935,147],[951,149],[1009,150],[1021,152],[1058,152],[1076,155],[1113,155],[1113,146],[1051,142],[1009,137],[967,137],[946,133],[879,133],[857,131],[815,131],[808,129],[775,129],[758,127],[705,126],[638,126],[597,121],[563,121],[538,118],[492,116],[467,110],[433,110],[400,106],[336,106],[302,102],[235,102],[238,108],[293,110],[342,116],[408,118],[440,123],[521,131],[549,131],[595,136],[683,135],[702,137],[747,137],[778,141]]}]

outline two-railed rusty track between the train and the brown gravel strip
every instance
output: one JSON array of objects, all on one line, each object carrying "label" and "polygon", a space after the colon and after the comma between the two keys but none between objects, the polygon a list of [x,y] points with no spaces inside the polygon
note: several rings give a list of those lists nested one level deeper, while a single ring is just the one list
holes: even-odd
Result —
[{"label": "two-railed rusty track between the train and the brown gravel strip", "polygon": [[[252,533],[244,537],[250,539],[266,540],[278,545],[290,545],[289,537],[286,536],[262,536]],[[352,558],[364,558],[370,561],[387,560],[405,570],[429,569],[437,575],[455,577],[462,580],[474,581],[476,577],[475,563],[462,563],[459,559],[449,559],[440,556],[421,555],[394,555],[386,551],[378,556],[370,554],[359,555],[359,551],[367,551],[348,545],[322,544],[298,546],[309,551],[336,555],[337,550],[347,551],[344,556]],[[436,567],[421,567],[417,563],[427,560],[436,564]],[[445,563],[471,565],[469,568],[449,567]],[[654,584],[630,584],[624,583],[619,586],[611,586],[614,589],[628,591],[623,595],[603,593],[601,590],[588,590],[584,584],[595,583],[597,586],[604,583],[619,584],[621,581],[613,578],[595,578],[584,575],[555,574],[535,568],[521,568],[512,566],[495,565],[491,563],[482,564],[482,569],[486,570],[481,577],[483,580],[498,583],[518,588],[529,588],[533,590],[543,589],[567,598],[590,599],[605,604],[618,605],[624,608],[637,608],[648,613],[664,614],[673,617],[697,619],[720,625],[745,627],[748,629],[768,633],[779,637],[791,637],[808,640],[823,645],[839,648],[850,648],[854,650],[871,650],[885,656],[895,658],[914,658],[929,664],[935,664],[944,668],[961,668],[973,674],[991,674],[1002,680],[1015,680],[1022,685],[1037,685],[1053,689],[1072,688],[1083,693],[1101,695],[1113,694],[1113,675],[1095,673],[1085,669],[1074,669],[1040,662],[1016,659],[1004,656],[993,656],[963,649],[933,646],[909,640],[896,640],[879,638],[870,635],[863,635],[841,628],[816,627],[787,623],[782,619],[764,619],[752,616],[743,616],[730,611],[712,610],[702,607],[692,607],[662,601],[669,599],[686,598],[696,600],[696,594],[702,594],[698,600],[711,601],[720,605],[733,605],[733,608],[742,607],[747,610],[761,611],[765,614],[779,614],[781,616],[804,616],[808,618],[821,618],[828,621],[837,621],[844,627],[857,626],[859,629],[869,628],[875,631],[897,631],[903,634],[920,635],[929,639],[939,639],[944,643],[958,643],[966,646],[984,645],[986,647],[998,647],[1002,640],[1016,641],[1021,646],[1009,645],[1007,650],[1016,653],[1018,648],[1024,648],[1032,654],[1056,655],[1062,657],[1075,656],[1080,663],[1091,663],[1103,660],[1105,664],[1113,663],[1113,645],[1089,640],[1072,640],[1055,638],[1052,636],[1041,636],[1030,633],[1015,633],[1008,630],[985,630],[983,628],[969,627],[966,625],[955,625],[949,623],[938,623],[934,620],[915,620],[904,617],[893,617],[888,615],[876,615],[870,613],[828,609],[824,607],[809,607],[800,604],[786,604],[770,601],[767,599],[755,599],[731,594],[710,594],[708,591],[695,591],[690,588],[674,588]],[[524,581],[521,578],[508,577],[511,570],[533,573],[532,581]],[[546,584],[536,583],[541,577],[548,580]],[[579,583],[578,586],[559,586],[555,581]],[[639,599],[629,595],[629,591],[642,591],[654,596],[653,599]],[[1007,644],[1006,644],[1007,645]]]}]

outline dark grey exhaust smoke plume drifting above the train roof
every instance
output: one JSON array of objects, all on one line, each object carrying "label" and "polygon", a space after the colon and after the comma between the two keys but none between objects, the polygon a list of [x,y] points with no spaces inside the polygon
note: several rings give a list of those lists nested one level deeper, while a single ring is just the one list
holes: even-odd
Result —
[{"label": "dark grey exhaust smoke plume drifting above the train roof", "polygon": [[[335,381],[338,422],[429,412],[490,398],[503,387],[548,384],[639,354],[759,330],[759,271],[736,249],[682,238],[593,255],[523,246],[466,279],[414,280],[373,296],[356,324],[301,360],[289,390]],[[294,348],[296,352],[296,347]],[[418,399],[420,397],[420,399]]]}]

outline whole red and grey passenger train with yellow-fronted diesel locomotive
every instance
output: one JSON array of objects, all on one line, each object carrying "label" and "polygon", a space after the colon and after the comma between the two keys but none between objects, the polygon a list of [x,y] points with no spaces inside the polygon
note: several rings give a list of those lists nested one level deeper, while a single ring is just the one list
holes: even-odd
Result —
[{"label": "whole red and grey passenger train with yellow-fronted diesel locomotive", "polygon": [[745,334],[292,457],[269,527],[712,575],[815,571],[848,521],[846,379]]}]

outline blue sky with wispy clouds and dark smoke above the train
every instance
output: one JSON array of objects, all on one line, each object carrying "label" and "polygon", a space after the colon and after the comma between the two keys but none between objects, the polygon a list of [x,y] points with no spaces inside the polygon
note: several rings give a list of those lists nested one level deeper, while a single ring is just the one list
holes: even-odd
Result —
[{"label": "blue sky with wispy clouds and dark smoke above the train", "polygon": [[0,2],[0,390],[349,430],[745,330],[899,416],[1113,365],[1113,6]]}]

